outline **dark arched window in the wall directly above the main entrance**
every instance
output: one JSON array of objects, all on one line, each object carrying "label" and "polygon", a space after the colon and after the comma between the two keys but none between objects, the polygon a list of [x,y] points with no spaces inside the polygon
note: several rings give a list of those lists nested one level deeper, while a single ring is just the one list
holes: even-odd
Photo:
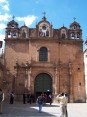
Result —
[{"label": "dark arched window in the wall directly above the main entrance", "polygon": [[48,50],[46,47],[41,47],[39,50],[39,61],[47,61],[48,60]]}]

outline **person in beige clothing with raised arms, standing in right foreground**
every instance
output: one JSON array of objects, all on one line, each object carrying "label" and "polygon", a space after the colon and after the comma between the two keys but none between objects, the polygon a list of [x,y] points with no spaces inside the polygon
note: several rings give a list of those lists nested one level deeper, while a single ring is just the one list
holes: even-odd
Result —
[{"label": "person in beige clothing with raised arms, standing in right foreground", "polygon": [[60,117],[68,117],[67,114],[67,98],[64,93],[59,94],[56,97],[57,101],[60,103],[60,111],[61,116]]}]

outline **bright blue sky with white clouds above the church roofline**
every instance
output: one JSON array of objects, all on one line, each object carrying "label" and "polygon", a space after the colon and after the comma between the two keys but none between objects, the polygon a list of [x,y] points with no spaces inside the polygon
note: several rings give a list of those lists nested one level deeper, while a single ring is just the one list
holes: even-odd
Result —
[{"label": "bright blue sky with white clouds above the church roofline", "polygon": [[[83,40],[87,36],[87,0],[0,0],[0,40],[5,38],[5,28],[12,16],[19,23],[33,28],[42,20],[43,12],[53,28],[60,28],[76,21],[83,30]],[[84,46],[85,48],[85,46]]]}]

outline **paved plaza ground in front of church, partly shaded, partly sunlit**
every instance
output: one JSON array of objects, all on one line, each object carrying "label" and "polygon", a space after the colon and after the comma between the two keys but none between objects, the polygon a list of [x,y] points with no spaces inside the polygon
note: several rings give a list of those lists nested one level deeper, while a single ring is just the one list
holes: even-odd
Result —
[{"label": "paved plaza ground in front of church, partly shaded, partly sunlit", "polygon": [[[37,104],[23,104],[22,102],[14,102],[9,104],[4,102],[3,113],[0,117],[59,117],[59,104],[53,103],[51,106],[46,104],[43,106],[43,112],[38,112]],[[87,117],[87,103],[69,103],[68,117]]]}]

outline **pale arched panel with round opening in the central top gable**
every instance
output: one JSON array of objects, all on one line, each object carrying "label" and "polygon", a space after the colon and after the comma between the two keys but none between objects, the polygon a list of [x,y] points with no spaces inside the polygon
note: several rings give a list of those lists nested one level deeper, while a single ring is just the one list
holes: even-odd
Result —
[{"label": "pale arched panel with round opening in the central top gable", "polygon": [[41,23],[39,25],[39,36],[49,37],[49,25],[47,23]]}]

